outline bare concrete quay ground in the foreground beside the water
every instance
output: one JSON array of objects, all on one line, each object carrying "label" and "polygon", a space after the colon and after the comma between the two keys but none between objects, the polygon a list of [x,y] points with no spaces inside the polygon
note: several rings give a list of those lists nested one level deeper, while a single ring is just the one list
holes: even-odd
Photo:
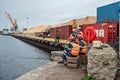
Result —
[{"label": "bare concrete quay ground in the foreground beside the water", "polygon": [[81,80],[84,75],[86,75],[85,69],[70,69],[55,61],[32,70],[16,80]]}]

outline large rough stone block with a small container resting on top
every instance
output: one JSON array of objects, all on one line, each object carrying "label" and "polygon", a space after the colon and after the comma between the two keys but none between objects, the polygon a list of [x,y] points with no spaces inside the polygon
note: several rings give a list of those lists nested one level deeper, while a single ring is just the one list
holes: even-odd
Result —
[{"label": "large rough stone block with a small container resting on top", "polygon": [[88,76],[96,80],[114,80],[117,69],[117,53],[112,47],[91,48],[88,52]]}]

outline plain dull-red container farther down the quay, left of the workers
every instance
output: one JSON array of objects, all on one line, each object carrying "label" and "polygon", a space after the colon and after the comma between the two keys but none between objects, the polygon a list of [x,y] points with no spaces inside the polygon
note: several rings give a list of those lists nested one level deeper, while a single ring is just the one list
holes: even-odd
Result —
[{"label": "plain dull-red container farther down the quay, left of the workers", "polygon": [[50,38],[55,38],[56,35],[60,36],[60,39],[67,39],[72,33],[72,25],[54,27],[50,29]]}]

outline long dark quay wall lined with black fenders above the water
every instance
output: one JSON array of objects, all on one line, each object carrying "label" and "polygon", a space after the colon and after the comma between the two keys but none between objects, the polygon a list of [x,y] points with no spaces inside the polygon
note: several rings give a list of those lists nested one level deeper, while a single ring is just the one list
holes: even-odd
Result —
[{"label": "long dark quay wall lined with black fenders above the water", "polygon": [[49,41],[49,40],[44,40],[44,39],[39,39],[39,38],[34,38],[30,36],[23,36],[23,35],[11,35],[12,37],[15,37],[17,39],[20,39],[24,42],[27,42],[31,45],[34,45],[38,48],[44,49],[48,52],[51,51],[57,51],[57,50],[63,50],[65,44],[63,43],[58,43],[55,41]]}]

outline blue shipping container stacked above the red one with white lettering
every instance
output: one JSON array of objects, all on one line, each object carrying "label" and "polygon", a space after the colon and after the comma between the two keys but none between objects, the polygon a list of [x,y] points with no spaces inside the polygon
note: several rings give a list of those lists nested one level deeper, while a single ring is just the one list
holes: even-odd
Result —
[{"label": "blue shipping container stacked above the red one with white lettering", "polygon": [[97,8],[97,22],[119,22],[120,2]]}]

